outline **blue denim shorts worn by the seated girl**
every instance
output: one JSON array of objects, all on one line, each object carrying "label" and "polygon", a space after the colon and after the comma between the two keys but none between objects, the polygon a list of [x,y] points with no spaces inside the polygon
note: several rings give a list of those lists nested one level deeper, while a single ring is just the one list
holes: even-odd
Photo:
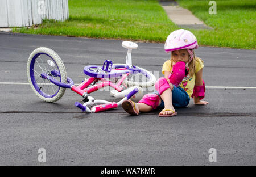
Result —
[{"label": "blue denim shorts worn by the seated girl", "polygon": [[[152,94],[159,95],[158,91],[155,91]],[[188,106],[189,102],[190,98],[188,93],[183,88],[174,86],[174,89],[172,90],[172,105],[174,107],[186,107]],[[158,108],[164,108],[164,102],[162,99]]]}]

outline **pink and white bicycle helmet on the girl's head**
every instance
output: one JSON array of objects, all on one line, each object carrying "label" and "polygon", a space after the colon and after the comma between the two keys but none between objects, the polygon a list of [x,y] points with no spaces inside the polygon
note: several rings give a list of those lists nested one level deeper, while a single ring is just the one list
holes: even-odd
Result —
[{"label": "pink and white bicycle helmet on the girl's head", "polygon": [[[191,60],[193,58],[193,49],[197,48],[198,44],[195,35],[184,29],[171,32],[166,39],[166,44],[164,44],[164,50],[166,50],[167,53],[174,50],[187,49]],[[191,60],[189,60],[189,62]]]}]

